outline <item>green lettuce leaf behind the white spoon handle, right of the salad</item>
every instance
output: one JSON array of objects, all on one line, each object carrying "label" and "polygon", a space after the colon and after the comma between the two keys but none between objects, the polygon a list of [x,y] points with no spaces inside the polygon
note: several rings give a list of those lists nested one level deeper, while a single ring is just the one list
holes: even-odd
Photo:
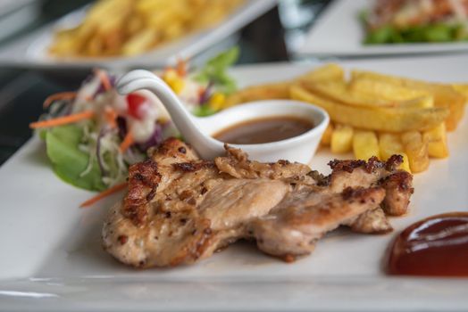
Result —
[{"label": "green lettuce leaf behind the white spoon handle, right of the salad", "polygon": [[238,61],[238,55],[238,46],[220,53],[206,62],[194,78],[202,83],[212,82],[214,88],[223,94],[233,93],[237,89],[237,84],[233,78],[230,78],[227,71],[231,65]]}]

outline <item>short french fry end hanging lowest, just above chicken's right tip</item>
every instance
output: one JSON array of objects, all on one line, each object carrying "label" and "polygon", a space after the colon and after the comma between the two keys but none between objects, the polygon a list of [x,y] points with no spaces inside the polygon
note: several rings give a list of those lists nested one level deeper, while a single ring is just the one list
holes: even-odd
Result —
[{"label": "short french fry end hanging lowest, just above chicken's right tip", "polygon": [[411,171],[422,172],[429,167],[428,142],[419,131],[408,131],[401,135]]}]

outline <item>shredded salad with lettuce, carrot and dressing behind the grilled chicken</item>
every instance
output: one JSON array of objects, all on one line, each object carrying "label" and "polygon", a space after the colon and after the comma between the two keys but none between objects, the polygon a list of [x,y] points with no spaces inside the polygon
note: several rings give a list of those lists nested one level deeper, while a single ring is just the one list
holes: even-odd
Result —
[{"label": "shredded salad with lettuce, carrot and dressing behind the grilled chicken", "polygon": [[[159,76],[197,116],[220,111],[225,97],[236,90],[227,69],[237,61],[232,48],[188,70],[187,62]],[[76,92],[54,94],[35,128],[46,142],[54,172],[63,181],[92,191],[125,182],[131,164],[144,160],[148,148],[170,136],[180,137],[163,103],[146,90],[121,95],[116,77],[94,70]]]}]

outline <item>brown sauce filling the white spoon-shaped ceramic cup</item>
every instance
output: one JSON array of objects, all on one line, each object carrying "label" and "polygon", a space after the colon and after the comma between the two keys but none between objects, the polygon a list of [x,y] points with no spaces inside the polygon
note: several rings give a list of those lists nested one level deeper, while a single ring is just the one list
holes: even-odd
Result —
[{"label": "brown sauce filling the white spoon-shaped ceramic cup", "polygon": [[293,116],[268,117],[240,122],[213,135],[229,144],[262,144],[302,135],[313,128],[307,119]]}]

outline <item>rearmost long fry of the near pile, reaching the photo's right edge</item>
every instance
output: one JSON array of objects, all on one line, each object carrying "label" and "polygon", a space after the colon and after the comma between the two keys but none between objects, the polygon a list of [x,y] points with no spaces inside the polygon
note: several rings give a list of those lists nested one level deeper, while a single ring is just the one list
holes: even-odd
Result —
[{"label": "rearmost long fry of the near pile, reaching the photo's right edge", "polygon": [[449,115],[445,121],[447,131],[455,130],[458,122],[464,116],[464,103],[466,99],[463,94],[456,92],[452,86],[388,76],[371,71],[353,70],[351,72],[351,80],[355,83],[355,81],[359,79],[376,80],[393,86],[410,88],[416,92],[432,94],[435,107],[445,107],[449,109]]}]

